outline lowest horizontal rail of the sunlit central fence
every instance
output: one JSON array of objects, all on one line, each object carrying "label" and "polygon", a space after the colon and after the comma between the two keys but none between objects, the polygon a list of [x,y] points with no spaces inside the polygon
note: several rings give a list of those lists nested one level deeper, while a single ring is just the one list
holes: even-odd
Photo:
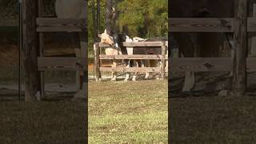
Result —
[{"label": "lowest horizontal rail of the sunlit central fence", "polygon": [[100,67],[101,71],[109,72],[155,72],[160,73],[160,67]]}]

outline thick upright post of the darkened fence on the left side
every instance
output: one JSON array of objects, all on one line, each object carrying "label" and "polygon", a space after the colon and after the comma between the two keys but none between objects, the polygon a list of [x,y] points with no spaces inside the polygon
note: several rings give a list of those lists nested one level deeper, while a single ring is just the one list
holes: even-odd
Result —
[{"label": "thick upright post of the darkened fence on the left side", "polygon": [[35,94],[40,90],[38,73],[38,34],[36,18],[38,1],[23,0],[22,30],[23,30],[23,65],[25,71],[25,101],[36,101]]}]

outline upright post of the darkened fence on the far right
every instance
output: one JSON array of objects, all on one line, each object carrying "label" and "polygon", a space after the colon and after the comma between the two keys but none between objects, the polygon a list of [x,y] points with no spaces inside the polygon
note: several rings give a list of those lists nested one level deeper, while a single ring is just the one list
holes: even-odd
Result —
[{"label": "upright post of the darkened fence on the far right", "polygon": [[247,53],[247,0],[235,0],[234,18],[234,78],[233,92],[236,96],[246,93]]}]

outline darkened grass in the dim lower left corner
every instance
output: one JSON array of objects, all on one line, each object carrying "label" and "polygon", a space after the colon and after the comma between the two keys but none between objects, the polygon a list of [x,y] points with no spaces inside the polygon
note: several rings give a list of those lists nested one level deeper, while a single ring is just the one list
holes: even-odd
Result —
[{"label": "darkened grass in the dim lower left corner", "polygon": [[63,144],[86,140],[85,102],[0,102],[0,143]]}]

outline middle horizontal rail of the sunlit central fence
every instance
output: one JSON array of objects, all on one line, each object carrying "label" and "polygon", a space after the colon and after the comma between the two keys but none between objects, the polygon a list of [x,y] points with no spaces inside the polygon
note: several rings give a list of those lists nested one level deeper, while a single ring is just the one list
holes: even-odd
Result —
[{"label": "middle horizontal rail of the sunlit central fence", "polygon": [[151,54],[134,54],[134,55],[99,55],[99,59],[157,59],[160,60],[162,55]]}]

